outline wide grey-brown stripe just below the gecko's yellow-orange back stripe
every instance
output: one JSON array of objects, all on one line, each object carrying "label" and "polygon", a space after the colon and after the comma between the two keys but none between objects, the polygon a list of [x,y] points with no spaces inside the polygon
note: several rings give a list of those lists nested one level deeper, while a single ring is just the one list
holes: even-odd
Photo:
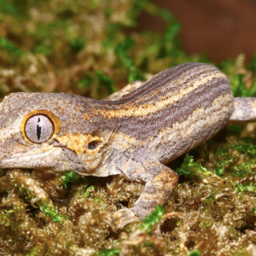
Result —
[{"label": "wide grey-brown stripe just below the gecko's yellow-orange back stripe", "polygon": [[124,117],[119,119],[120,131],[131,137],[146,140],[156,136],[159,131],[173,124],[183,123],[196,108],[210,108],[218,96],[231,94],[230,84],[226,79],[215,79],[197,90],[183,96],[178,102],[166,106],[157,113],[143,117]]}]

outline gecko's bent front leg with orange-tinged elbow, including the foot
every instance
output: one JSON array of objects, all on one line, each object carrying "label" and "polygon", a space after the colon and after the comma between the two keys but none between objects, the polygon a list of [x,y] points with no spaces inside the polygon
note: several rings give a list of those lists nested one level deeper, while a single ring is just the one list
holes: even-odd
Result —
[{"label": "gecko's bent front leg with orange-tinged elbow, including the foot", "polygon": [[177,173],[158,161],[146,161],[128,177],[139,182],[146,182],[143,193],[130,209],[121,209],[113,213],[113,230],[123,228],[137,219],[148,216],[158,205],[163,205],[171,195],[178,181]]}]

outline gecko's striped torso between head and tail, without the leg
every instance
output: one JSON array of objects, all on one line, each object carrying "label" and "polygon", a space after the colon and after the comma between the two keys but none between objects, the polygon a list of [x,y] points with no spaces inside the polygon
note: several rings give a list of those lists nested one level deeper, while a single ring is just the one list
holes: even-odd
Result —
[{"label": "gecko's striped torso between head and tail, without the leg", "polygon": [[150,148],[161,163],[212,137],[229,120],[234,105],[227,77],[205,63],[160,72],[110,104],[110,112],[99,111],[104,119],[119,119],[122,134],[141,142],[138,148]]}]

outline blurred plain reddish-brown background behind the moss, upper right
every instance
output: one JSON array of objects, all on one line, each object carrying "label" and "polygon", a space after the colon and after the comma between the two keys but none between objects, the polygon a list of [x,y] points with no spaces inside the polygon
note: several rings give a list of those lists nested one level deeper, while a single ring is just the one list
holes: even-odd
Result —
[{"label": "blurred plain reddish-brown background behind the moss, upper right", "polygon": [[[179,37],[188,54],[205,52],[212,61],[256,53],[255,0],[152,0],[169,9],[183,24]],[[166,22],[143,12],[139,29],[164,31]]]}]

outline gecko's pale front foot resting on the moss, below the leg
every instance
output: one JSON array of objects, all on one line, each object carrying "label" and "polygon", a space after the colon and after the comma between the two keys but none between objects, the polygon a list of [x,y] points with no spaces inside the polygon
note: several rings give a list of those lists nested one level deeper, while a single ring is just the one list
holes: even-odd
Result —
[{"label": "gecko's pale front foot resting on the moss, below the leg", "polygon": [[112,228],[113,230],[120,230],[125,227],[126,224],[129,224],[133,221],[136,221],[138,218],[135,216],[128,208],[121,209],[117,212],[113,212],[112,215]]}]

